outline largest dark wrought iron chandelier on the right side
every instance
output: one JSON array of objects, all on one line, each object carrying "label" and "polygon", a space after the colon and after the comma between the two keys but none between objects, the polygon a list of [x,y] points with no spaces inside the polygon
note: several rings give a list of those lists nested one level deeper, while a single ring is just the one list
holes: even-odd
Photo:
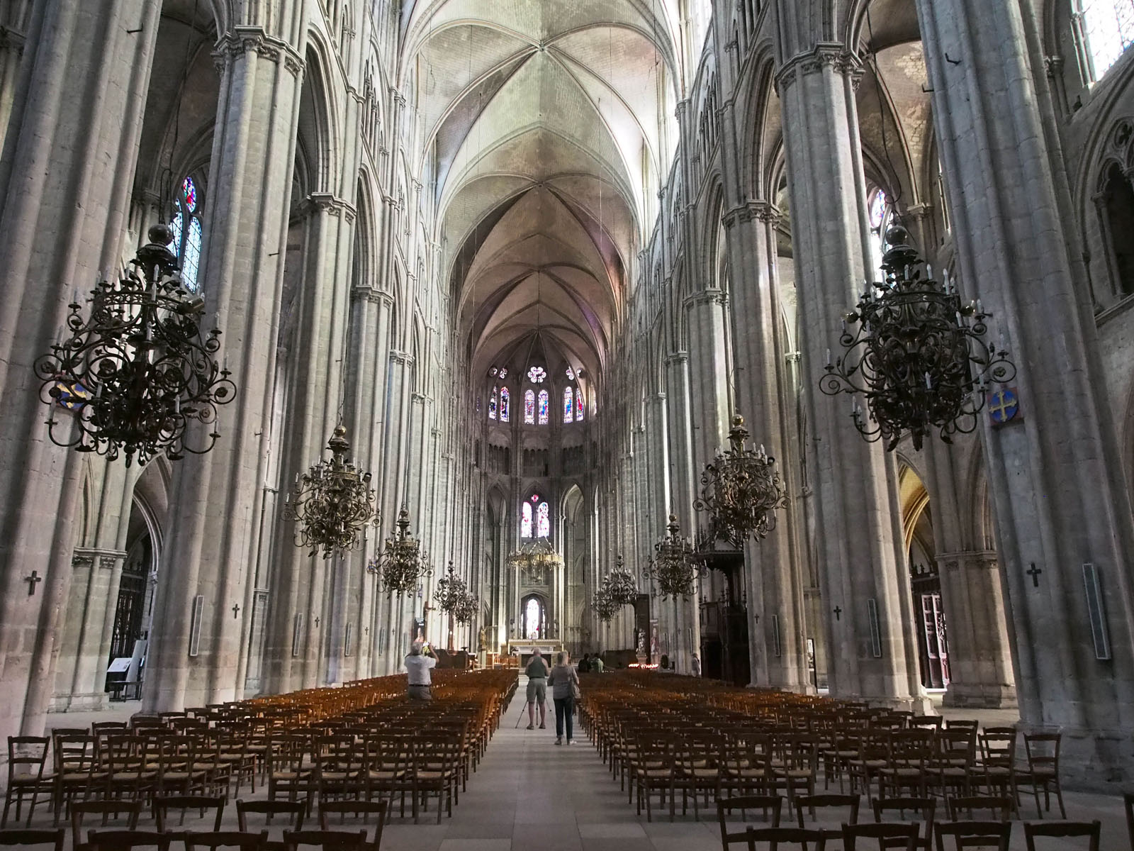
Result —
[{"label": "largest dark wrought iron chandelier on the right side", "polygon": [[[909,231],[895,225],[886,233],[885,280],[869,284],[857,309],[847,313],[839,343],[844,354],[827,354],[819,382],[828,396],[866,397],[869,419],[852,401],[855,428],[870,441],[894,449],[908,431],[915,449],[938,429],[941,439],[976,428],[989,381],[1006,382],[1016,366],[1004,348],[984,342],[988,332],[980,301],[962,304],[956,286],[933,280],[908,245]],[[857,325],[847,329],[847,322]]]}]

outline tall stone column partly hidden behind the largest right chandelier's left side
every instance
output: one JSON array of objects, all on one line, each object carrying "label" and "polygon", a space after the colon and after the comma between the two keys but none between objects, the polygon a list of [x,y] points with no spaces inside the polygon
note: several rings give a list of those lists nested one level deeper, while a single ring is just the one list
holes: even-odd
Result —
[{"label": "tall stone column partly hidden behind the largest right chandelier's left side", "polygon": [[924,708],[902,557],[894,461],[850,423],[846,397],[819,391],[824,351],[838,340],[866,269],[865,182],[855,113],[858,70],[819,44],[776,77],[792,179],[804,393],[815,452],[815,550],[831,644],[831,694]]}]

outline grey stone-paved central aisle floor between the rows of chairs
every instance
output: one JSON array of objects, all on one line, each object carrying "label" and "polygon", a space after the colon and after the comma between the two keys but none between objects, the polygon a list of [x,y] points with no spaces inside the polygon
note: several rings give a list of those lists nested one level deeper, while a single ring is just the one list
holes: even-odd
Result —
[{"label": "grey stone-paved central aisle floor between the rows of chairs", "polygon": [[547,730],[525,730],[526,709],[516,728],[525,684],[521,677],[452,818],[431,824],[437,818],[431,811],[420,825],[389,825],[382,851],[719,851],[714,817],[646,824],[643,812],[640,821],[578,728],[575,747],[556,747],[550,699]]}]

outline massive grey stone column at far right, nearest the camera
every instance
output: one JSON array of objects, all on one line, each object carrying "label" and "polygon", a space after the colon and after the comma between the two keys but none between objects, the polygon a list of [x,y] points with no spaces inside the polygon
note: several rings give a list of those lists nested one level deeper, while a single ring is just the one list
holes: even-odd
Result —
[{"label": "massive grey stone column at far right, nearest the camera", "polygon": [[1129,781],[1131,504],[1038,20],[1018,0],[919,0],[917,12],[959,285],[1018,370],[1021,416],[999,430],[984,419],[981,435],[1021,719],[1063,732],[1070,775]]}]

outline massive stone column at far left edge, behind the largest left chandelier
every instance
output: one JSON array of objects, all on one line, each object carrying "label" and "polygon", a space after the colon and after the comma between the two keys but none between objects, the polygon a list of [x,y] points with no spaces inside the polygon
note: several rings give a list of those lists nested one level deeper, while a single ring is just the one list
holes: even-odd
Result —
[{"label": "massive stone column at far left edge, behind the largest left chandelier", "polygon": [[0,741],[43,730],[84,466],[48,438],[33,362],[76,290],[119,267],[160,8],[37,0],[17,15],[24,54],[0,158]]}]

